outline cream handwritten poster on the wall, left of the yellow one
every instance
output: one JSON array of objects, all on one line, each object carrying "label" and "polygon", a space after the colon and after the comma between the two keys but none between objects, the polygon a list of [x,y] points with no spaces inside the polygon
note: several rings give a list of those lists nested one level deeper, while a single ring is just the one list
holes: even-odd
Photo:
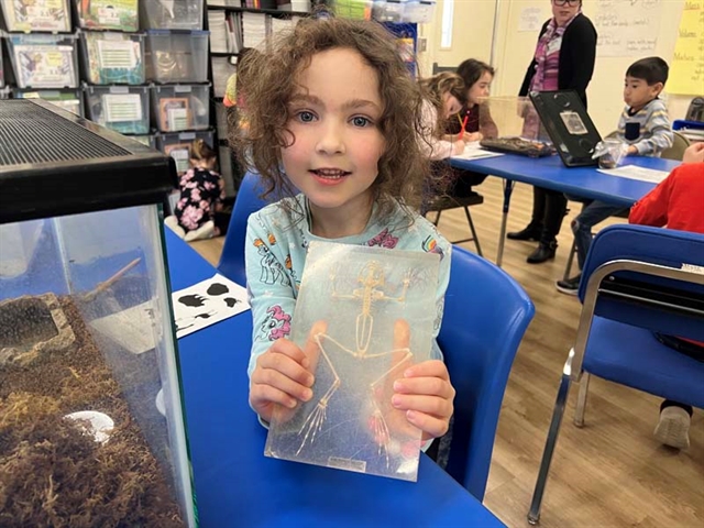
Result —
[{"label": "cream handwritten poster on the wall, left of the yellow one", "polygon": [[597,0],[594,26],[600,57],[642,57],[654,53],[662,0]]}]

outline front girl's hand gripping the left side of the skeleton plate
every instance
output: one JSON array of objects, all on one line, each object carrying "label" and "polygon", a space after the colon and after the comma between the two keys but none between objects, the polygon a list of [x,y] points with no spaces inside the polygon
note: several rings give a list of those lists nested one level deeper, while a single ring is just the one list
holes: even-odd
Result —
[{"label": "front girl's hand gripping the left side of the skeleton plate", "polygon": [[312,398],[312,373],[319,353],[314,338],[324,330],[324,323],[314,324],[304,350],[282,338],[256,359],[250,383],[250,405],[264,421],[272,421],[275,413],[277,420],[286,421],[300,402]]}]

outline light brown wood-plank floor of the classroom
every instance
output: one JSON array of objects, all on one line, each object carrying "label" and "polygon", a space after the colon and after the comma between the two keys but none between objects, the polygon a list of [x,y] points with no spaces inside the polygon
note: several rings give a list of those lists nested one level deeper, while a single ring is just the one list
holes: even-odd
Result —
[{"label": "light brown wood-plank floor of the classroom", "polygon": [[[495,261],[502,180],[488,178],[477,190],[485,201],[472,208],[484,255]],[[530,187],[518,184],[508,229],[521,229],[532,205]],[[573,205],[574,206],[574,205]],[[558,257],[526,263],[535,243],[507,241],[504,268],[528,292],[536,318],[518,351],[504,397],[485,506],[509,527],[527,526],[532,487],[562,365],[574,340],[580,304],[560,294],[572,243],[569,219],[562,226]],[[440,230],[450,240],[466,237],[461,210],[442,215]],[[222,239],[193,244],[211,263]],[[474,251],[472,242],[463,244]],[[586,424],[571,418],[579,387],[573,387],[543,501],[541,526],[550,527],[704,527],[704,415],[696,409],[692,447],[678,452],[652,438],[659,399],[602,380],[592,380]]]}]

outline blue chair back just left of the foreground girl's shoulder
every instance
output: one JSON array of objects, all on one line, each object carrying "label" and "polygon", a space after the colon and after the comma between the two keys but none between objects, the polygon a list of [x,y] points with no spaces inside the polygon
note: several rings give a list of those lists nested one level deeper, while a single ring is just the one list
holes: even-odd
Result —
[{"label": "blue chair back just left of the foreground girl's shoulder", "polygon": [[262,193],[264,193],[264,187],[258,174],[246,173],[238,189],[238,196],[234,199],[234,208],[232,209],[232,217],[230,217],[228,234],[226,235],[220,263],[218,264],[218,271],[220,273],[241,285],[246,284],[244,243],[248,218],[250,218],[250,215],[253,212],[275,201],[273,198],[262,199]]}]

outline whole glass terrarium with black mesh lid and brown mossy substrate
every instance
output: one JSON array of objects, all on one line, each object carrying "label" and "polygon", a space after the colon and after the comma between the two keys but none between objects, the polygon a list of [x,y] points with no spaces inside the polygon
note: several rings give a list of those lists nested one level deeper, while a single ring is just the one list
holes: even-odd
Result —
[{"label": "whole glass terrarium with black mesh lid and brown mossy substrate", "polygon": [[168,156],[0,101],[0,526],[196,526]]}]

